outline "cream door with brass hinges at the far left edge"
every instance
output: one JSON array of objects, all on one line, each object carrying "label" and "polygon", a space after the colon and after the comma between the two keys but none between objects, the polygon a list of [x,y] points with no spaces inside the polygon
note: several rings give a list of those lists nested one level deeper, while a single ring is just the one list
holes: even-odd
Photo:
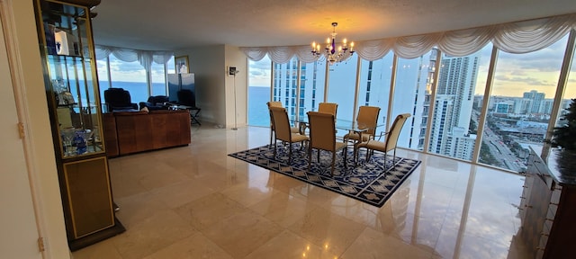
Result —
[{"label": "cream door with brass hinges at the far left edge", "polygon": [[[0,7],[2,8],[2,7]],[[4,9],[0,9],[4,11]],[[2,12],[0,11],[0,12]],[[3,16],[0,14],[0,17]],[[0,25],[4,22],[0,19]],[[4,39],[4,26],[0,26],[0,78],[12,78],[8,62],[8,53]],[[18,134],[18,112],[14,97],[12,80],[0,80],[0,251],[4,258],[40,259],[36,242],[39,230],[36,227],[36,211],[30,189],[30,177],[26,167],[23,139]],[[18,197],[17,201],[11,197]],[[14,224],[19,222],[20,224]]]}]

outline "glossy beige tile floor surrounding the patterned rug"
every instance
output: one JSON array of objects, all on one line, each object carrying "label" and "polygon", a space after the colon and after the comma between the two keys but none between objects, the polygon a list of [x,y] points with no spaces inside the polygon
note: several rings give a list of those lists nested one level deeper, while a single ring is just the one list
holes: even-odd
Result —
[{"label": "glossy beige tile floor surrounding the patterned rug", "polygon": [[524,177],[399,149],[422,161],[375,208],[227,156],[269,129],[193,126],[193,143],[110,160],[119,236],[84,258],[526,258]]}]

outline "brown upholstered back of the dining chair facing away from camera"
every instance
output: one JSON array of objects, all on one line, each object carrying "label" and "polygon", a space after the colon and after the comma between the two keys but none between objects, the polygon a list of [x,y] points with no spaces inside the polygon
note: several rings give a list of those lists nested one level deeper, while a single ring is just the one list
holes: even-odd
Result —
[{"label": "brown upholstered back of the dining chair facing away from camera", "polygon": [[310,127],[310,147],[335,151],[336,126],[334,115],[324,112],[307,112]]}]

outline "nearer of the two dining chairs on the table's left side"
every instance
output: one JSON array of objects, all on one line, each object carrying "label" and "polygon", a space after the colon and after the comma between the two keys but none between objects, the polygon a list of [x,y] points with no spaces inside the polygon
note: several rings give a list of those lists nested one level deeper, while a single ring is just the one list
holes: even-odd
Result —
[{"label": "nearer of the two dining chairs on the table's left side", "polygon": [[300,133],[294,133],[290,130],[290,121],[288,120],[288,113],[286,109],[282,107],[270,107],[270,113],[272,114],[272,121],[274,121],[274,156],[276,156],[276,142],[281,140],[283,145],[287,142],[289,145],[288,159],[292,160],[292,144],[301,142],[301,148],[304,146],[304,142],[308,141],[309,138]]}]

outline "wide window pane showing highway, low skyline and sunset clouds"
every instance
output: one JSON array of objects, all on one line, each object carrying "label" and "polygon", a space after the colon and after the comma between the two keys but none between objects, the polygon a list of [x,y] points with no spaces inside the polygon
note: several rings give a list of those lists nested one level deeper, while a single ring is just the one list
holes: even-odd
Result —
[{"label": "wide window pane showing highway, low skyline and sunset clouds", "polygon": [[526,168],[528,148],[540,152],[567,39],[526,54],[499,51],[480,163],[521,172]]}]

